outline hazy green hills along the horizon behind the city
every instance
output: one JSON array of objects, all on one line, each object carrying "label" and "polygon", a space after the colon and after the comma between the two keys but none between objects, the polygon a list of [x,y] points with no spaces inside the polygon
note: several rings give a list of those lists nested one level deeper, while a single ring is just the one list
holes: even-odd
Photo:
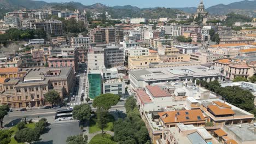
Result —
[{"label": "hazy green hills along the horizon behind the city", "polygon": [[[32,0],[0,0],[0,17],[4,16],[7,11],[19,10],[19,9],[59,9],[59,10],[74,10],[86,9],[87,11],[108,11],[113,18],[120,17],[147,17],[156,19],[158,17],[176,17],[176,14],[181,13],[195,13],[196,7],[186,8],[138,8],[132,5],[114,6],[108,7],[101,3],[93,5],[83,5],[78,2],[68,3],[47,3],[44,1],[32,1]],[[256,16],[256,0],[253,1],[241,1],[230,4],[218,4],[213,5],[206,9],[210,14],[224,15],[231,12],[240,13],[248,16]]]}]

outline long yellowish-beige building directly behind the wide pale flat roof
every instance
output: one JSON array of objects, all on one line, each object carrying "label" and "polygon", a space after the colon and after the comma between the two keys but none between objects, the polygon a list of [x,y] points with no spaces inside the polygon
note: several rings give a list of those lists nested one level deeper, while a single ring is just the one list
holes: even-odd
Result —
[{"label": "long yellowish-beige building directly behind the wide pale flat roof", "polygon": [[[129,69],[164,68],[195,65],[189,55],[149,55],[129,57]],[[199,64],[199,63],[196,63]]]}]

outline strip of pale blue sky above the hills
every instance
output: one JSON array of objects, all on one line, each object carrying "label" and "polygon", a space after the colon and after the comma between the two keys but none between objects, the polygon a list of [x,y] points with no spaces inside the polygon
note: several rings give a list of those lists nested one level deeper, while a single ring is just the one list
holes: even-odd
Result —
[{"label": "strip of pale blue sky above the hills", "polygon": [[[39,0],[37,0],[39,1]],[[42,1],[42,0],[41,0]],[[70,2],[72,0],[43,0],[45,2]],[[73,0],[74,2],[81,2],[84,5],[91,5],[95,3],[102,3],[108,6],[114,5],[133,5],[140,8],[149,7],[196,7],[200,0]],[[204,0],[206,8],[216,4],[229,4],[232,2],[239,2],[243,0]]]}]

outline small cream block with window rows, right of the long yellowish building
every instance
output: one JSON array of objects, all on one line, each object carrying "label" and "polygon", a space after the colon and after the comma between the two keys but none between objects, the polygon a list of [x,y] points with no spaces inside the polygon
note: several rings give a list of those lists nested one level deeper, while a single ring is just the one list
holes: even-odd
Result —
[{"label": "small cream block with window rows, right of the long yellowish building", "polygon": [[212,65],[214,61],[218,59],[223,59],[223,55],[214,54],[212,52],[190,53],[190,60],[200,62],[201,64]]}]

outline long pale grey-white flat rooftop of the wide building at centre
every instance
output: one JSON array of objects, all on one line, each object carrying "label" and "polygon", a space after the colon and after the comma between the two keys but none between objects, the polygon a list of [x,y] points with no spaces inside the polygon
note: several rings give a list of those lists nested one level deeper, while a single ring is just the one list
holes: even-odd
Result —
[{"label": "long pale grey-white flat rooftop of the wide building at centre", "polygon": [[189,65],[182,67],[167,67],[167,68],[148,68],[134,69],[129,73],[141,80],[168,80],[178,79],[178,77],[203,77],[203,76],[222,76],[219,68],[209,69],[201,65]]}]

